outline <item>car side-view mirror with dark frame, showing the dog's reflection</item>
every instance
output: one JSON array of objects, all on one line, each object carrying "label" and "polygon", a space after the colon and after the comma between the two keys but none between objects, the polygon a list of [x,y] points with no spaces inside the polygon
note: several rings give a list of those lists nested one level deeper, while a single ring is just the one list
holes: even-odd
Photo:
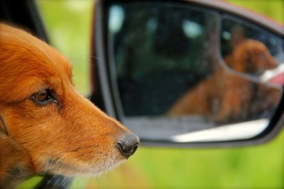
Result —
[{"label": "car side-view mirror with dark frame, showing the dog's reflection", "polygon": [[220,1],[136,0],[97,1],[93,29],[95,95],[142,144],[258,144],[283,128],[283,26]]}]

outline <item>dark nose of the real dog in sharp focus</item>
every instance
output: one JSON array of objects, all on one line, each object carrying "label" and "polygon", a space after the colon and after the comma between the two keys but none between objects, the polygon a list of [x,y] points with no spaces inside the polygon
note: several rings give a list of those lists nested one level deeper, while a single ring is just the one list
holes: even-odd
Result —
[{"label": "dark nose of the real dog in sharp focus", "polygon": [[127,134],[123,137],[123,139],[119,140],[119,142],[116,143],[116,147],[119,149],[123,156],[129,158],[129,156],[134,154],[134,152],[138,148],[139,142],[139,137],[136,134]]}]

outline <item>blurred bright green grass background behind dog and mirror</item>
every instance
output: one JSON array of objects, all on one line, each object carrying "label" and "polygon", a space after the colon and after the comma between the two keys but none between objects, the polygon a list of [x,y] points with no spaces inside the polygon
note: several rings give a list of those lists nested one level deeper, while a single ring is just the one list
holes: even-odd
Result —
[{"label": "blurred bright green grass background behind dog and mirror", "polygon": [[[284,24],[284,1],[231,0]],[[38,1],[52,44],[70,58],[74,80],[89,93],[93,1]],[[39,177],[19,188],[31,188]],[[141,147],[123,166],[99,178],[76,178],[72,188],[284,188],[284,132],[266,144],[227,149]]]}]

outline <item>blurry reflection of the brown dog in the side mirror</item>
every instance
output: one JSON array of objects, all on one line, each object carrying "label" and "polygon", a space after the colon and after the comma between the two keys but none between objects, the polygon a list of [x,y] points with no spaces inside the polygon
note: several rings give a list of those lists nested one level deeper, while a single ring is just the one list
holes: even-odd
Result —
[{"label": "blurry reflection of the brown dog in the side mirror", "polygon": [[[245,40],[226,57],[235,71],[258,74],[273,69],[275,62],[266,46],[256,40]],[[216,122],[244,120],[248,116],[275,108],[280,100],[279,88],[256,83],[222,66],[174,103],[167,115],[202,114]]]}]

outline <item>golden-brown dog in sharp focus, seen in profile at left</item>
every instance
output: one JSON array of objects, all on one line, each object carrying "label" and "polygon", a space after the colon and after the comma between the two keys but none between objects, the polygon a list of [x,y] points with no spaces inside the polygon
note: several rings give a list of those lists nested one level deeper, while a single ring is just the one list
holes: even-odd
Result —
[{"label": "golden-brown dog in sharp focus, seen in profile at left", "polygon": [[0,24],[0,188],[36,173],[95,176],[136,151],[138,137],[72,85],[67,58]]}]

